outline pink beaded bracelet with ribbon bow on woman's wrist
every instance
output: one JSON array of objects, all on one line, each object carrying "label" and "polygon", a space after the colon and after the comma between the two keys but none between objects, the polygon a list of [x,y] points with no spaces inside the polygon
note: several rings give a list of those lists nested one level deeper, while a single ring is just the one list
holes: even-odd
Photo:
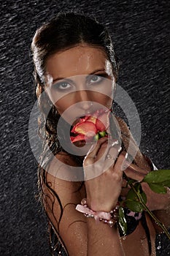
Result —
[{"label": "pink beaded bracelet with ribbon bow on woman's wrist", "polygon": [[81,204],[76,206],[76,210],[82,212],[85,217],[94,218],[96,222],[102,221],[109,225],[109,227],[115,226],[118,219],[119,204],[115,206],[110,212],[105,211],[93,211],[88,208],[86,198],[83,198]]}]

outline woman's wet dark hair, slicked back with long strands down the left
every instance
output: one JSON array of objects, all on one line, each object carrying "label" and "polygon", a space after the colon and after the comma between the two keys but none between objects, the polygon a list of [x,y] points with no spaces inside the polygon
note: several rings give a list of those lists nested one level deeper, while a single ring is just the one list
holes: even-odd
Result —
[{"label": "woman's wet dark hair, slicked back with long strands down the left", "polygon": [[[43,93],[46,83],[45,69],[49,56],[54,53],[72,48],[79,44],[86,44],[96,48],[101,48],[106,53],[107,58],[112,64],[112,71],[117,79],[119,62],[112,45],[112,39],[105,26],[98,23],[96,18],[92,19],[82,12],[62,11],[55,18],[43,24],[36,30],[32,40],[31,50],[34,60],[34,78],[36,82],[36,96],[38,97],[41,116],[39,117],[39,135],[42,137],[42,155],[39,159],[39,198],[43,198],[43,185],[49,189],[50,194],[56,198],[61,206],[61,201],[55,191],[47,183],[47,173],[45,167],[50,162],[50,156],[64,151],[58,140],[56,127],[58,118],[55,106],[49,109],[50,99]],[[52,103],[52,102],[51,102]],[[48,112],[48,113],[47,113]],[[53,154],[51,154],[51,152]],[[76,157],[75,157],[76,158]],[[77,162],[80,161],[77,158]],[[82,165],[81,162],[79,162]],[[43,201],[44,200],[44,201]],[[45,197],[42,204],[45,204]],[[47,214],[47,213],[46,213]],[[61,206],[61,217],[63,208]],[[54,215],[54,214],[53,214]],[[60,217],[60,220],[61,220]],[[60,222],[59,220],[59,222]],[[58,225],[59,225],[58,222]],[[50,238],[53,236],[53,227],[50,226]],[[55,230],[57,233],[57,230]],[[60,238],[58,234],[58,238]],[[58,243],[57,243],[58,244]],[[53,254],[52,238],[50,239],[51,253]]]}]

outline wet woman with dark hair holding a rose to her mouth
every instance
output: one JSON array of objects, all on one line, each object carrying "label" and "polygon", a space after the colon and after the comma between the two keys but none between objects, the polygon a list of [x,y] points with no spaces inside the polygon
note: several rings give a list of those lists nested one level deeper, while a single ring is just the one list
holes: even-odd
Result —
[{"label": "wet woman with dark hair holding a rose to her mouth", "polygon": [[[155,255],[155,234],[160,230],[146,213],[136,214],[136,217],[126,209],[128,233],[123,237],[114,225],[115,219],[112,225],[110,219],[105,219],[106,225],[90,218],[90,214],[82,214],[80,206],[76,210],[82,201],[85,209],[90,208],[97,214],[116,211],[117,201],[127,194],[127,189],[123,188],[123,170],[126,176],[139,181],[152,170],[150,160],[137,148],[125,122],[116,117],[121,143],[117,132],[118,140],[103,137],[92,145],[87,143],[91,147],[86,154],[79,154],[82,143],[75,143],[77,147],[71,146],[71,151],[61,145],[63,141],[68,143],[64,134],[68,125],[73,127],[81,117],[93,115],[101,106],[107,110],[112,108],[118,63],[107,29],[85,15],[61,12],[36,31],[32,51],[36,94],[42,111],[39,132],[44,136],[39,189],[49,220],[52,253],[64,255],[64,250],[70,256]],[[61,119],[62,129],[58,132]],[[132,164],[127,165],[126,151],[130,142],[130,152],[136,153]],[[78,178],[72,174],[73,169]],[[87,173],[90,178],[83,181]],[[143,189],[147,206],[169,226],[166,217],[169,191],[158,195],[150,191],[147,184],[143,184]],[[54,234],[60,243],[55,244]],[[60,244],[64,248],[62,252]]]}]

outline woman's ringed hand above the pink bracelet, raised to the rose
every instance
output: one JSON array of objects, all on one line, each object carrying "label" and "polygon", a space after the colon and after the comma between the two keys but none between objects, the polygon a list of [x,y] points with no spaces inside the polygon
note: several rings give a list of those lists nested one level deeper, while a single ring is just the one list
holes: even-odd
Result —
[{"label": "woman's ringed hand above the pink bracelet, raised to the rose", "polygon": [[125,152],[119,155],[120,145],[112,146],[113,143],[114,140],[101,138],[83,162],[87,203],[93,211],[111,211],[122,189]]}]

